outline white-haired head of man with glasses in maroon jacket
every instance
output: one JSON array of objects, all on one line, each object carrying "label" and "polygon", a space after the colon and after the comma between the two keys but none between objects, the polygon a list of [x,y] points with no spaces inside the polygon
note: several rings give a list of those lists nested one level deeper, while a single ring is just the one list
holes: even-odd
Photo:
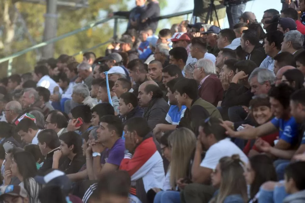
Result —
[{"label": "white-haired head of man with glasses in maroon jacket", "polygon": [[210,74],[216,74],[215,64],[209,59],[199,59],[195,64],[194,79],[200,83],[203,78]]}]

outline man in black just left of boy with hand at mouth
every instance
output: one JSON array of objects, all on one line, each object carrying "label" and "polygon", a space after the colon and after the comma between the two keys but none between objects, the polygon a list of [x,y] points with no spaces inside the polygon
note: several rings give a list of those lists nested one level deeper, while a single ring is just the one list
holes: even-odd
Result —
[{"label": "man in black just left of boy with hand at mouth", "polygon": [[38,169],[38,174],[43,175],[52,168],[53,154],[59,150],[60,142],[57,133],[51,129],[41,131],[37,139],[40,151],[45,156],[42,167]]}]

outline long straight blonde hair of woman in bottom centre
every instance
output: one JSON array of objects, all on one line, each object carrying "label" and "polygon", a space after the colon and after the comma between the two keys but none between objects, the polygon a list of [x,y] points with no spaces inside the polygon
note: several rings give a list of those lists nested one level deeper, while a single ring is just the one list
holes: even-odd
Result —
[{"label": "long straight blonde hair of woman in bottom centre", "polygon": [[187,128],[179,128],[169,135],[168,142],[172,152],[169,183],[175,188],[176,181],[187,176],[196,147],[196,136]]}]

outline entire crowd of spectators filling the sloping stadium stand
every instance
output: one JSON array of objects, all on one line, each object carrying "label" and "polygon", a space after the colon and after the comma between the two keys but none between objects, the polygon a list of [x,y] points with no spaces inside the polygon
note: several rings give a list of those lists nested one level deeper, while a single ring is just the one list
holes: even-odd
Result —
[{"label": "entire crowd of spectators filling the sloping stadium stand", "polygon": [[0,201],[305,202],[304,0],[158,33],[141,2],[105,56],[0,80]]}]

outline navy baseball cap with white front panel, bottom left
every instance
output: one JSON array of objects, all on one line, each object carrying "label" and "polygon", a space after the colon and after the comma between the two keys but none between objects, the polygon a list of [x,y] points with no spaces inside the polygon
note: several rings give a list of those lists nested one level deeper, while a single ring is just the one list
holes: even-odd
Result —
[{"label": "navy baseball cap with white front panel, bottom left", "polygon": [[68,176],[60,170],[54,169],[49,172],[45,176],[35,176],[35,181],[39,184],[46,185],[46,186],[58,186],[60,187],[65,195],[68,195],[69,191],[71,190],[72,183]]}]

